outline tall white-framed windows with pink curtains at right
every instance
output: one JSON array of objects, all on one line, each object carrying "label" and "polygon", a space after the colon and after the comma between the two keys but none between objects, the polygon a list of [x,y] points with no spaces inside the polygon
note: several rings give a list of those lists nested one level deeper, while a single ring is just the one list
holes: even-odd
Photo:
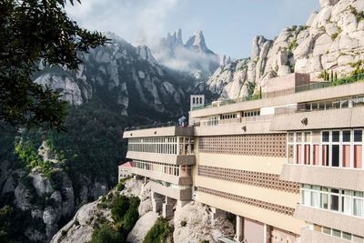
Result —
[{"label": "tall white-framed windows with pink curtains at right", "polygon": [[288,133],[288,163],[363,168],[363,130]]}]

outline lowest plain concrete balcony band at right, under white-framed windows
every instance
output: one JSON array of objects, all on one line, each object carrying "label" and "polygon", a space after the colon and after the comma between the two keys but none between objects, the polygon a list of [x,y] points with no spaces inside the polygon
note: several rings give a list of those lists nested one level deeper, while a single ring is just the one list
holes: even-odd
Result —
[{"label": "lowest plain concrete balcony band at right, under white-framed windows", "polygon": [[364,218],[350,217],[319,208],[297,205],[294,218],[312,222],[328,228],[336,228],[360,237],[364,236]]}]

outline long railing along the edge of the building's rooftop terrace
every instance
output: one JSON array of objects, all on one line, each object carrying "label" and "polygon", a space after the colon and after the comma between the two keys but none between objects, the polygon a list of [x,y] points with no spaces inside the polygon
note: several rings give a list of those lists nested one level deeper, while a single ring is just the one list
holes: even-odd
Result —
[{"label": "long railing along the edge of the building's rooftop terrace", "polygon": [[286,96],[286,95],[290,95],[290,94],[315,90],[315,89],[319,89],[319,88],[325,88],[325,87],[329,87],[329,86],[348,85],[348,84],[352,84],[352,83],[363,81],[363,80],[364,80],[364,74],[360,74],[360,75],[355,75],[355,76],[343,77],[343,78],[340,78],[340,79],[337,79],[337,80],[334,80],[331,82],[329,82],[329,81],[328,82],[326,82],[326,81],[325,82],[319,82],[319,81],[312,82],[311,84],[308,84],[308,85],[296,86],[294,88],[282,89],[282,90],[275,91],[275,92],[267,92],[267,93],[263,93],[262,95],[259,94],[259,95],[255,95],[255,96],[239,97],[239,98],[235,98],[235,99],[218,100],[218,101],[212,102],[212,103],[204,105],[204,106],[195,106],[192,108],[192,110],[199,110],[199,109],[217,107],[217,106],[227,106],[230,104],[241,103],[241,102],[246,102],[246,101],[251,101],[251,100],[258,100],[258,99],[263,99],[263,98]]}]

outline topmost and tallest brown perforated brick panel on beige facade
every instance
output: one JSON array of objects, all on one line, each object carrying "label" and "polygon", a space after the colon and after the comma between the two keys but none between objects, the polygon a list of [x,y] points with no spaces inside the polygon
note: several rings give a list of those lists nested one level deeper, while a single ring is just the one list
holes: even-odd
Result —
[{"label": "topmost and tallest brown perforated brick panel on beige facade", "polygon": [[227,155],[286,157],[286,144],[286,134],[198,138],[199,152]]}]

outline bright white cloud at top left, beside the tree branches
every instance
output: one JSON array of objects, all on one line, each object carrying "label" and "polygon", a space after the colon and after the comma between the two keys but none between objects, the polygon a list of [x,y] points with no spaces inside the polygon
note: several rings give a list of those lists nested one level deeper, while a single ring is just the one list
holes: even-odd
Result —
[{"label": "bright white cloud at top left, beside the tree branches", "polygon": [[83,0],[66,12],[90,30],[111,31],[132,44],[155,42],[166,35],[168,20],[186,0]]}]

